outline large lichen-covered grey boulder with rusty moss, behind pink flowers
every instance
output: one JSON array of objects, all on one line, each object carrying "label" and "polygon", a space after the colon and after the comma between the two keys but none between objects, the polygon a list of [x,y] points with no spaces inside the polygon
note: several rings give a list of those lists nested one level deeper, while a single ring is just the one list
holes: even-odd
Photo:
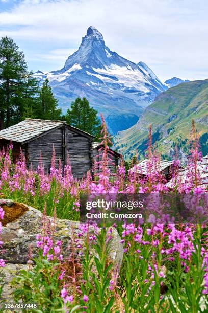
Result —
[{"label": "large lichen-covered grey boulder with rusty moss, behind pink flowers", "polygon": [[[0,199],[0,206],[5,210],[3,219],[2,240],[4,242],[4,259],[8,263],[27,264],[29,247],[32,247],[33,256],[38,255],[36,235],[42,232],[42,213],[30,206],[13,202],[8,199]],[[47,217],[49,223],[53,217]],[[56,219],[55,240],[62,240],[63,255],[70,254],[70,243],[73,236],[76,241],[80,233],[80,222],[66,219]],[[120,236],[116,229],[112,228],[112,240],[110,243],[109,261],[114,269],[120,269],[123,248]],[[79,238],[79,244],[84,245],[85,237]]]}]

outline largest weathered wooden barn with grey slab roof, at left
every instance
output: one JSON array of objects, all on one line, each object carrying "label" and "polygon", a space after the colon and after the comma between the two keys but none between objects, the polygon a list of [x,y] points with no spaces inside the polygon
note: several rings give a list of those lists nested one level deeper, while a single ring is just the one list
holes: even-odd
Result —
[{"label": "largest weathered wooden barn with grey slab roof, at left", "polygon": [[44,169],[49,172],[54,145],[57,159],[61,159],[64,166],[69,153],[74,177],[82,178],[93,165],[93,139],[94,136],[64,121],[26,119],[0,131],[0,149],[6,149],[12,141],[14,160],[21,148],[28,166],[32,165],[33,169],[37,169],[42,153]]}]

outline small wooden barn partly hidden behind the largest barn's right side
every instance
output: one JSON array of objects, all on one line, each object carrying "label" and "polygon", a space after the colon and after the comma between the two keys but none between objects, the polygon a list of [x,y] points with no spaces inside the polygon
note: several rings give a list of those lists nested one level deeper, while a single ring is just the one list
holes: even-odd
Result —
[{"label": "small wooden barn partly hidden behind the largest barn's right side", "polygon": [[[102,160],[103,149],[105,148],[100,142],[93,142],[93,158],[94,158],[94,171],[99,173],[102,171],[101,164],[99,162]],[[118,166],[119,158],[121,155],[109,149],[107,153],[108,158],[108,168],[110,169],[111,173],[115,173],[116,167]]]}]

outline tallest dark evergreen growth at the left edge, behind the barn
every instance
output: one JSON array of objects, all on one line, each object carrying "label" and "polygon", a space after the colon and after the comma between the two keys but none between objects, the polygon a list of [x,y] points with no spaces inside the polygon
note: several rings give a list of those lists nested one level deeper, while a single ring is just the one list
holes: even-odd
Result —
[{"label": "tallest dark evergreen growth at the left edge, behind the barn", "polygon": [[[0,129],[22,120],[25,104],[37,100],[38,82],[24,54],[9,37],[0,39]],[[34,104],[35,106],[35,104]]]}]

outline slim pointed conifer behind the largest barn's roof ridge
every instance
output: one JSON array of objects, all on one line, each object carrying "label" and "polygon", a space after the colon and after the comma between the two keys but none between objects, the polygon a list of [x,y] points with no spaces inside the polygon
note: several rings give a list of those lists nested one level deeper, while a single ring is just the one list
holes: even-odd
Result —
[{"label": "slim pointed conifer behind the largest barn's roof ridge", "polygon": [[61,109],[57,108],[58,100],[54,97],[49,81],[46,79],[43,82],[40,91],[41,113],[40,118],[44,120],[59,120],[61,119]]}]

